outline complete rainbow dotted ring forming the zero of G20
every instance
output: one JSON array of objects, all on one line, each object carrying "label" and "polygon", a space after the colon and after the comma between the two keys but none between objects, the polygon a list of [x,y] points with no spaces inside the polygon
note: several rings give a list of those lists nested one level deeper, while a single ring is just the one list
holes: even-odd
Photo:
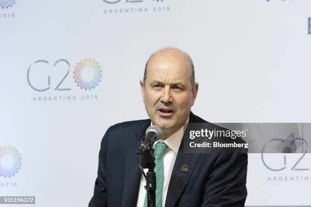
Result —
[{"label": "complete rainbow dotted ring forming the zero of G20", "polygon": [[[82,79],[82,71],[85,67],[90,67],[94,70],[94,78],[90,81],[84,81]],[[74,71],[74,79],[75,83],[77,83],[78,87],[84,90],[94,89],[99,85],[102,78],[102,70],[101,66],[96,62],[96,60],[92,60],[90,58],[85,58],[77,63]]]}]

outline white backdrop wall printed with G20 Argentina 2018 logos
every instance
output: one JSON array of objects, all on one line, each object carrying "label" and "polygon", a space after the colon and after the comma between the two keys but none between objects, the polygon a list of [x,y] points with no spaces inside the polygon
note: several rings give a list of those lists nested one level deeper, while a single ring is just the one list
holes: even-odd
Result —
[{"label": "white backdrop wall printed with G20 Argentina 2018 logos", "polygon": [[[0,175],[0,195],[86,206],[102,136],[147,118],[139,79],[149,55],[167,46],[194,60],[193,112],[203,119],[311,122],[310,8],[308,0],[0,0],[0,151],[20,154],[0,155],[2,169],[13,174],[21,158],[14,176]],[[78,65],[85,58],[94,64]],[[74,71],[88,81],[99,66],[99,85],[80,89]],[[270,168],[285,167],[273,171],[249,155],[246,205],[311,205],[310,154],[286,156],[285,164],[282,154],[264,155]]]}]

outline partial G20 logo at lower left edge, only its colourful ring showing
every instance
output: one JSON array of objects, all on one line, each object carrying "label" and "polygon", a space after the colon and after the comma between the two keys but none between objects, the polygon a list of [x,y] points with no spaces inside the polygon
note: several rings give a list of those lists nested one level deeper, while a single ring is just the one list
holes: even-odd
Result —
[{"label": "partial G20 logo at lower left edge, only its colourful ring showing", "polygon": [[[7,161],[9,164],[5,163],[5,159],[9,159]],[[21,157],[17,149],[10,146],[0,147],[0,176],[5,178],[14,176],[20,169],[20,165]]]}]

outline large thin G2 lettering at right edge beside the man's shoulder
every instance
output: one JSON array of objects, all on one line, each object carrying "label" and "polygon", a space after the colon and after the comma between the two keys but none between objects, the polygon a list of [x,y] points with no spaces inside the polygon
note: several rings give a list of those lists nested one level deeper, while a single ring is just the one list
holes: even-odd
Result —
[{"label": "large thin G2 lettering at right edge beside the man's shoulder", "polygon": [[[295,142],[295,141],[302,143],[302,145],[305,144],[306,148],[303,150],[303,153],[299,154],[298,158],[295,158],[295,160],[292,160],[290,163],[288,161],[289,155],[287,155],[287,154],[282,154],[282,157],[280,156],[276,161],[274,160],[273,162],[271,162],[270,161],[271,154],[267,155],[265,153],[265,148],[267,147],[267,145],[269,143],[281,143],[282,144],[282,142],[284,142],[284,140],[273,139],[273,140],[269,141],[268,143],[266,143],[264,145],[264,147],[262,148],[262,153],[261,153],[261,159],[262,159],[262,162],[265,165],[265,167],[267,167],[269,170],[272,170],[272,171],[281,171],[281,170],[284,170],[288,167],[290,168],[290,170],[309,170],[308,167],[301,167],[300,166],[301,164],[299,164],[301,162],[301,160],[303,158],[305,158],[305,154],[307,152],[308,144],[304,139],[300,139],[300,138],[294,139],[292,142]],[[289,145],[291,145],[291,144],[289,144]],[[292,153],[290,150],[290,147],[291,146],[287,146],[287,147],[285,146],[283,149],[283,153]],[[293,153],[291,155],[295,155],[295,154],[297,154],[297,153]],[[267,156],[270,156],[270,159],[268,159]]]}]

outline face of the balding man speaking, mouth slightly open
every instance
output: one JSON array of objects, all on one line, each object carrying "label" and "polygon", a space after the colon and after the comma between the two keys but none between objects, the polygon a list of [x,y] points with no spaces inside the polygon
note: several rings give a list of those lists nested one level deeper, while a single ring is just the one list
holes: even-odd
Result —
[{"label": "face of the balding man speaking, mouth slightly open", "polygon": [[145,85],[140,81],[143,101],[154,125],[164,139],[176,132],[189,117],[198,91],[191,85],[191,65],[181,54],[155,54],[148,63]]}]

